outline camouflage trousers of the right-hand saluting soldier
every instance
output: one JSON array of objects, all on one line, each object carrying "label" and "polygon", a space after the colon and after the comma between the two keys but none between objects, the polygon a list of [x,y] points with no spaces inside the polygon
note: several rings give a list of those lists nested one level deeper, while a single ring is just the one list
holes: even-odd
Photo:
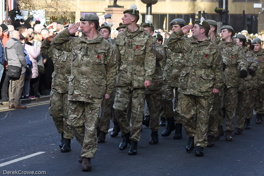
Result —
[{"label": "camouflage trousers of the right-hand saluting soldier", "polygon": [[[207,128],[212,111],[214,95],[198,97],[194,95],[179,95],[178,113],[181,115],[182,126],[188,137],[194,137],[194,146],[207,146]],[[197,111],[197,119],[194,116]]]}]

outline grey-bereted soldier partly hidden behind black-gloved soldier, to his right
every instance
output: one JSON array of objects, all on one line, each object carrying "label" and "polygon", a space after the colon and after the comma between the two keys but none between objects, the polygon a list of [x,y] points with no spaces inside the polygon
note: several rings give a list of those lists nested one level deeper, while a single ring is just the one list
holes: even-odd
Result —
[{"label": "grey-bereted soldier partly hidden behind black-gloved soldier, to his right", "polygon": [[[236,41],[236,44],[243,47],[246,52],[248,50],[248,46],[246,44],[246,37],[243,34],[236,34],[234,36],[234,40]],[[249,92],[252,90],[252,72],[254,73],[256,70],[258,70],[258,63],[254,60],[252,57],[249,57],[249,55],[246,55],[246,59],[248,62],[248,76],[245,78],[240,78],[240,85],[238,87],[238,104],[237,104],[237,115],[236,115],[236,131],[235,134],[242,134],[243,127],[246,121],[246,114],[247,114],[247,108],[249,105]],[[253,62],[253,64],[252,64]]]}]

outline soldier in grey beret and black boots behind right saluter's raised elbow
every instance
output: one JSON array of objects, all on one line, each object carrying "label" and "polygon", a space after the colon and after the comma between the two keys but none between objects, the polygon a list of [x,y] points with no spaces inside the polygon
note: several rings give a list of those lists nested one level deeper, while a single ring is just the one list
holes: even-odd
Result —
[{"label": "soldier in grey beret and black boots behind right saluter's raised elbow", "polygon": [[[183,19],[177,18],[170,22],[170,26],[172,26],[172,31],[179,31],[183,26],[185,26],[185,21]],[[182,36],[183,38],[187,38],[186,35]],[[179,92],[178,85],[179,85],[179,77],[182,69],[184,68],[184,57],[182,53],[175,53],[171,51],[167,46],[168,40],[164,43],[164,50],[167,56],[164,72],[163,72],[163,82],[164,82],[164,94],[163,94],[163,107],[164,113],[162,112],[161,117],[163,114],[166,116],[167,119],[167,128],[161,134],[163,137],[169,136],[173,130],[175,130],[175,135],[173,136],[174,139],[181,139],[182,138],[182,123],[180,121],[180,116],[177,113],[177,110],[173,111],[173,103],[172,99],[174,98],[174,106],[177,109],[178,104],[178,96]],[[175,90],[175,96],[173,93]],[[176,126],[174,123],[174,117]]]}]

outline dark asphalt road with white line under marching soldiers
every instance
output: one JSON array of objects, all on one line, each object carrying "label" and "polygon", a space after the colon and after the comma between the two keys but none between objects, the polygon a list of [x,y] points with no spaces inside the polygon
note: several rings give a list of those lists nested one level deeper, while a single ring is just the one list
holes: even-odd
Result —
[{"label": "dark asphalt road with white line under marching soldiers", "polygon": [[[60,134],[49,115],[49,102],[29,106],[27,109],[0,109],[0,175],[15,170],[45,171],[51,176],[264,175],[264,123],[255,124],[255,115],[250,130],[243,130],[242,135],[233,132],[232,142],[221,137],[215,147],[204,149],[204,157],[194,156],[194,151],[185,151],[188,138],[184,131],[183,138],[175,140],[174,132],[162,137],[166,127],[161,127],[159,143],[149,145],[151,131],[143,126],[137,155],[128,155],[129,147],[119,150],[121,133],[111,138],[109,132],[106,142],[98,143],[95,158],[91,160],[92,171],[82,172],[82,165],[77,160],[81,147],[76,139],[72,140],[69,153],[60,152]],[[113,128],[112,122],[110,128]]]}]

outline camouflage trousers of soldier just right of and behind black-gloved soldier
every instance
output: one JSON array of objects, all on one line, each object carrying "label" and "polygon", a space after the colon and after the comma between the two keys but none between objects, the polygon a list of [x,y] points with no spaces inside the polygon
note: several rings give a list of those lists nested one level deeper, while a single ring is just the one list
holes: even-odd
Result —
[{"label": "camouflage trousers of soldier just right of and behind black-gloved soldier", "polygon": [[244,127],[246,121],[247,107],[249,103],[249,91],[238,91],[238,104],[236,114],[236,128]]}]

